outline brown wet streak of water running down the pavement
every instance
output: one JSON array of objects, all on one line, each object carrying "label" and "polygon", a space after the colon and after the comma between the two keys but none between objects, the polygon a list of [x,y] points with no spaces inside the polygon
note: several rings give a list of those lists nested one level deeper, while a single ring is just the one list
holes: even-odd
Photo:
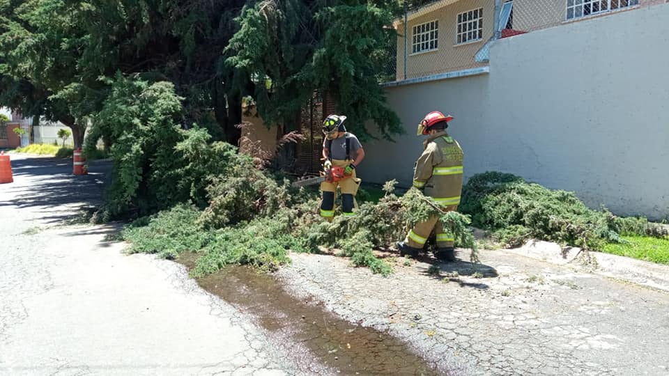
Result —
[{"label": "brown wet streak of water running down the pavement", "polygon": [[[197,256],[182,254],[189,269]],[[307,347],[340,375],[440,375],[406,343],[376,329],[337,318],[323,306],[297,299],[268,274],[231,266],[197,279],[202,288],[249,313],[270,332]],[[287,337],[287,338],[286,338]]]}]

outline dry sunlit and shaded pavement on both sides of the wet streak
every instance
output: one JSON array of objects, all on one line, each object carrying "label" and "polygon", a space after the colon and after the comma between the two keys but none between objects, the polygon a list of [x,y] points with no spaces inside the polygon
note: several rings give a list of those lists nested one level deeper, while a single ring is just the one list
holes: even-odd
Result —
[{"label": "dry sunlit and shaded pavement on both sides of the wet streak", "polygon": [[[341,371],[203,291],[183,265],[123,255],[124,244],[105,241],[117,225],[63,225],[98,203],[105,162],[75,178],[67,160],[12,159],[15,182],[0,185],[0,375]],[[396,270],[389,278],[305,254],[276,277],[310,304],[401,338],[447,375],[669,375],[666,290],[517,251],[482,251],[476,272],[465,261],[382,256]],[[651,269],[669,279],[668,268]],[[636,276],[644,270],[635,263]]]}]

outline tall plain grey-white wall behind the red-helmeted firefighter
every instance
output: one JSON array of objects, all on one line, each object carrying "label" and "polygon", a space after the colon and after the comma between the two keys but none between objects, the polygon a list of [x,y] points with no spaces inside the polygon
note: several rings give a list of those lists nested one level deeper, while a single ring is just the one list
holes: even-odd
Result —
[{"label": "tall plain grey-white wall behind the red-helmeted firefighter", "polygon": [[360,176],[409,185],[415,125],[442,110],[466,176],[515,173],[592,207],[666,217],[668,61],[668,4],[499,40],[489,75],[388,88],[408,135],[366,144]]}]

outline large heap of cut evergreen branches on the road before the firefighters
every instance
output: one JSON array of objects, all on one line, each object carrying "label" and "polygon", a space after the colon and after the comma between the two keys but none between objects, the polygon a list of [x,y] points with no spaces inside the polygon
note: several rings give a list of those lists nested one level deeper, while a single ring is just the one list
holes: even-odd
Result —
[{"label": "large heap of cut evergreen branches on the road before the firefighters", "polygon": [[[138,221],[124,233],[134,244],[133,251],[168,258],[183,251],[198,252],[201,258],[193,273],[201,276],[233,263],[274,270],[289,262],[289,251],[337,249],[354,266],[387,275],[392,267],[374,250],[392,246],[408,228],[432,215],[442,216],[459,246],[475,249],[470,219],[455,212],[443,214],[436,202],[416,189],[398,197],[392,193],[396,182],[388,182],[378,203],[361,203],[355,217],[338,215],[328,222],[318,215],[320,198],[315,191],[290,187],[288,180],[256,168],[252,159],[232,152],[225,143],[207,143],[206,130],[184,133],[185,141],[175,146],[184,161],[179,171],[190,187],[197,187],[191,189],[190,201],[206,185],[208,205],[203,210],[177,205]],[[217,166],[210,166],[213,160]],[[208,166],[207,171],[198,166]],[[187,171],[206,177],[195,180]],[[473,262],[476,255],[472,252]]]}]

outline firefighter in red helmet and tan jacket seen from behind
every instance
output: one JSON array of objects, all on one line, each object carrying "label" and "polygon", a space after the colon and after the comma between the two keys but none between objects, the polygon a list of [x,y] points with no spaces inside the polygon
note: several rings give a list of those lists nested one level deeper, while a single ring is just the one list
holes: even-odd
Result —
[{"label": "firefighter in red helmet and tan jacket seen from behind", "polygon": [[[423,142],[424,151],[416,162],[413,186],[422,189],[443,207],[444,212],[457,210],[462,191],[463,152],[460,145],[446,133],[452,116],[433,111],[418,125],[418,135],[428,136]],[[454,261],[454,238],[444,228],[439,216],[417,224],[397,247],[402,256],[418,256],[427,238],[434,230],[437,241],[436,258]]]}]

